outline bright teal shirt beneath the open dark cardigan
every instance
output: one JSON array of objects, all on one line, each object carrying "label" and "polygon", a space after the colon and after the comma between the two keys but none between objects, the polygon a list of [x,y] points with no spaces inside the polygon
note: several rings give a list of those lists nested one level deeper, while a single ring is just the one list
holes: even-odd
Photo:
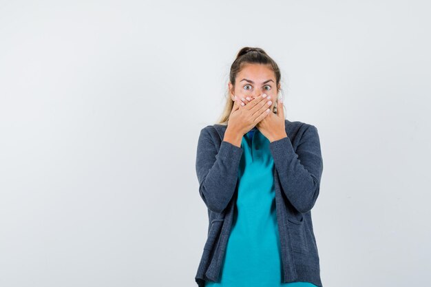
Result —
[{"label": "bright teal shirt beneath the open dark cardigan", "polygon": [[206,287],[317,287],[309,282],[282,283],[274,162],[269,143],[256,127],[242,138],[238,199],[221,279],[206,281]]}]

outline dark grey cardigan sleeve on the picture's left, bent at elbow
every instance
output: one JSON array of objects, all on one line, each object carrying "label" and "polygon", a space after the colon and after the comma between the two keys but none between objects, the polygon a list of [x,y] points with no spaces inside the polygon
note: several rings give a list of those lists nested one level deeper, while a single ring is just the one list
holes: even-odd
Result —
[{"label": "dark grey cardigan sleeve on the picture's left, bent at elbow", "polygon": [[242,148],[222,141],[215,147],[209,132],[211,126],[200,131],[196,152],[196,174],[199,194],[207,208],[221,213],[233,197],[238,180]]}]

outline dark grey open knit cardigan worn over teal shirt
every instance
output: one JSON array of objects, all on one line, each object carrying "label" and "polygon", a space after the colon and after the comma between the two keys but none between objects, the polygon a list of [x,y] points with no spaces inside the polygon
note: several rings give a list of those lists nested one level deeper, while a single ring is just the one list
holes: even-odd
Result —
[{"label": "dark grey open knit cardigan worn over teal shirt", "polygon": [[[269,144],[274,160],[275,204],[280,233],[282,282],[308,281],[322,286],[311,209],[319,196],[323,171],[319,135],[314,125],[285,120],[286,138]],[[209,227],[196,283],[219,281],[238,195],[242,148],[223,141],[226,125],[200,131],[196,173]]]}]

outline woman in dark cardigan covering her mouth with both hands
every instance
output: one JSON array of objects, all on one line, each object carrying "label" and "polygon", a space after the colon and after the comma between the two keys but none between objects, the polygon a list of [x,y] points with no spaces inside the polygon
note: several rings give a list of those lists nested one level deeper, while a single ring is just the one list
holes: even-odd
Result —
[{"label": "woman in dark cardigan covering her mouth with both hands", "polygon": [[280,70],[244,47],[218,124],[200,132],[199,193],[209,214],[203,287],[322,287],[311,209],[323,171],[317,128],[285,120]]}]

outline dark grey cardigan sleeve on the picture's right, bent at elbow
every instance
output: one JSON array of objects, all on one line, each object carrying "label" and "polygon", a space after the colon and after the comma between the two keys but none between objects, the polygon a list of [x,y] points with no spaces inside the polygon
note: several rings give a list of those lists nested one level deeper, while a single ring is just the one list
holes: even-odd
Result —
[{"label": "dark grey cardigan sleeve on the picture's right, bent at elbow", "polygon": [[286,197],[297,211],[311,211],[319,196],[323,171],[317,128],[306,128],[296,153],[288,137],[271,142],[270,149]]}]

